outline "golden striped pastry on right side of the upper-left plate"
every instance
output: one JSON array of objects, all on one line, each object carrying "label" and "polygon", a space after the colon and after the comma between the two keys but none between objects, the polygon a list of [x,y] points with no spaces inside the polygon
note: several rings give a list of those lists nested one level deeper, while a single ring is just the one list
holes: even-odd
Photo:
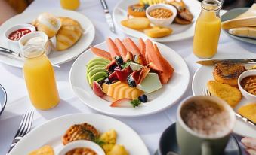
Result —
[{"label": "golden striped pastry on right side of the upper-left plate", "polygon": [[56,50],[66,50],[76,44],[84,30],[80,23],[69,17],[60,17],[61,27],[56,35]]}]

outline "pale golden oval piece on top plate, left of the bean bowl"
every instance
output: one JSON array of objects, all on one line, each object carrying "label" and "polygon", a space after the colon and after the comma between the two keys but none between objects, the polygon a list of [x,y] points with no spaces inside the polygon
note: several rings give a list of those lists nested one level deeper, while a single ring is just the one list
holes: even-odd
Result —
[{"label": "pale golden oval piece on top plate, left of the bean bowl", "polygon": [[122,26],[131,28],[131,29],[147,29],[150,27],[150,20],[146,17],[135,17],[128,20],[121,21]]}]

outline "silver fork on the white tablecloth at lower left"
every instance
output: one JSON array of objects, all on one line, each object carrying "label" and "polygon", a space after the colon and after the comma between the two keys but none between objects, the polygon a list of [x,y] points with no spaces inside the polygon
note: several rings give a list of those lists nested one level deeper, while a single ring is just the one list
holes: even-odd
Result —
[{"label": "silver fork on the white tablecloth at lower left", "polygon": [[26,114],[24,114],[19,129],[17,130],[17,133],[14,136],[14,140],[11,143],[10,149],[8,150],[8,153],[14,148],[17,142],[20,141],[20,139],[29,132],[32,126],[33,116],[34,111],[27,111]]}]

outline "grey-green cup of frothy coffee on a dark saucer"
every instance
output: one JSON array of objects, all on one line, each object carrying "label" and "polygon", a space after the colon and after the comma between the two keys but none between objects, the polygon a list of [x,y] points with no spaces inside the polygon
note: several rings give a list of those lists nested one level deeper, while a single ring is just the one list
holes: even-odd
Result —
[{"label": "grey-green cup of frothy coffee on a dark saucer", "polygon": [[214,96],[190,96],[177,108],[177,143],[181,155],[220,155],[229,141],[236,117]]}]

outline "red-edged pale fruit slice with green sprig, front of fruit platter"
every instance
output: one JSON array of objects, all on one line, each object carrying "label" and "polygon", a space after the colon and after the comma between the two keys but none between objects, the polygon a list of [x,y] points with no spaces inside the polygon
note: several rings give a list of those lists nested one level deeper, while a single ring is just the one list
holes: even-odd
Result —
[{"label": "red-edged pale fruit slice with green sprig, front of fruit platter", "polygon": [[138,99],[119,99],[113,102],[111,107],[122,107],[122,108],[135,108],[139,106],[141,102]]}]

